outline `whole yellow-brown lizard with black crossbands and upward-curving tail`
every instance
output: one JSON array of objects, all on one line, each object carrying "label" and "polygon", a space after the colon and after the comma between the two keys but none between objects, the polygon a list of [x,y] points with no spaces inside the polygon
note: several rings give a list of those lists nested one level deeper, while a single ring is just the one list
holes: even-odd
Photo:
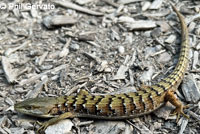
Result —
[{"label": "whole yellow-brown lizard with black crossbands and upward-curving tail", "polygon": [[134,118],[155,111],[167,101],[176,107],[174,113],[177,114],[177,119],[181,114],[188,117],[183,113],[185,106],[174,95],[188,65],[188,30],[184,17],[173,5],[172,8],[181,23],[181,50],[174,71],[160,82],[152,86],[142,86],[137,92],[123,94],[91,95],[83,92],[76,96],[33,98],[15,104],[15,110],[32,116],[52,117],[44,122],[39,130],[65,118]]}]

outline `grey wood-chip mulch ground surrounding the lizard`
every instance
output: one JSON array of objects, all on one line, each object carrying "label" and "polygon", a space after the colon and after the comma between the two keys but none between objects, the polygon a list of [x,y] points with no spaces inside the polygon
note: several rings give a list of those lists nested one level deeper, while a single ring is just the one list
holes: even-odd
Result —
[{"label": "grey wood-chip mulch ground surrounding the lizard", "polygon": [[[18,2],[9,1],[15,8],[8,8],[6,0],[0,6],[0,133],[34,133],[39,127],[34,122],[43,121],[17,114],[16,102],[80,89],[101,94],[135,90],[164,78],[177,63],[180,27],[169,1],[32,1],[53,5],[47,10],[20,9]],[[66,120],[63,131],[200,133],[200,2],[171,2],[186,17],[190,32],[190,64],[177,91],[191,105],[185,111],[190,119],[181,118],[177,125],[167,104],[127,121]]]}]

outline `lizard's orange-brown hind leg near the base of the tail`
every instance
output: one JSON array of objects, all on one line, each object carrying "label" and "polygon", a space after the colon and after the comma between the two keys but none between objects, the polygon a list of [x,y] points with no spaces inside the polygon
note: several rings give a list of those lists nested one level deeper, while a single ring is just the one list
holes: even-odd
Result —
[{"label": "lizard's orange-brown hind leg near the base of the tail", "polygon": [[172,91],[167,91],[166,95],[165,95],[165,99],[166,101],[169,101],[172,105],[174,105],[176,107],[176,109],[174,110],[174,112],[172,113],[172,115],[177,115],[176,118],[176,122],[178,122],[180,115],[183,115],[186,118],[189,118],[188,115],[186,115],[183,110],[185,108],[188,108],[188,105],[184,106],[180,100],[178,100],[176,98],[176,96],[174,95],[174,92]]}]

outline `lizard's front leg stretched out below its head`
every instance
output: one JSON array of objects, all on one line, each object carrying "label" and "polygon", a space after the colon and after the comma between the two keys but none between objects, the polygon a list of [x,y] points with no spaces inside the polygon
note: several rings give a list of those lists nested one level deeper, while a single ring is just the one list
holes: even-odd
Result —
[{"label": "lizard's front leg stretched out below its head", "polygon": [[41,127],[37,130],[37,133],[39,134],[40,132],[44,132],[45,129],[50,126],[50,125],[53,125],[63,119],[66,119],[66,118],[73,118],[75,117],[75,115],[71,112],[66,112],[66,113],[63,113],[61,114],[60,116],[58,117],[54,117],[44,123],[40,123],[40,122],[37,122],[39,125],[41,125]]}]

